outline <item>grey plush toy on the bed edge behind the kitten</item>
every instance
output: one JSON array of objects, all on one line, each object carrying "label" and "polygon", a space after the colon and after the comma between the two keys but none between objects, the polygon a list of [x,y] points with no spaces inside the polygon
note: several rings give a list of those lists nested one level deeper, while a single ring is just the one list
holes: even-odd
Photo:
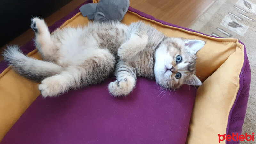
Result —
[{"label": "grey plush toy on the bed edge behind the kitten", "polygon": [[129,0],[100,0],[79,8],[84,17],[96,21],[121,21],[128,11]]}]

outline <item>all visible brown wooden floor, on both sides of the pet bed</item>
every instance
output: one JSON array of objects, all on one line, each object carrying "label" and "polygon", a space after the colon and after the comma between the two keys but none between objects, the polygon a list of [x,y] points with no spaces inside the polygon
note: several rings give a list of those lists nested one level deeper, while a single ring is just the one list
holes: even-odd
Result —
[{"label": "all visible brown wooden floor, on both sides of the pet bed", "polygon": [[[51,16],[45,18],[50,26],[57,20],[66,16],[85,0],[73,0]],[[130,0],[130,6],[154,16],[166,22],[188,27],[202,12],[204,12],[214,0]],[[17,44],[22,46],[34,37],[34,32],[29,29],[21,34],[8,45]],[[0,49],[3,51],[4,47]],[[2,57],[0,56],[0,61]]]}]

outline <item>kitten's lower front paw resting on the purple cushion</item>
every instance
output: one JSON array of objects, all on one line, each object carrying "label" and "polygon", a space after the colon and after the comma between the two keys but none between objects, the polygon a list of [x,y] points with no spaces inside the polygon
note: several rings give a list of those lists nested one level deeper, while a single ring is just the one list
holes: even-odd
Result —
[{"label": "kitten's lower front paw resting on the purple cushion", "polygon": [[114,81],[108,85],[109,92],[114,96],[124,96],[126,97],[133,89],[135,84],[132,84],[127,78],[121,81]]}]

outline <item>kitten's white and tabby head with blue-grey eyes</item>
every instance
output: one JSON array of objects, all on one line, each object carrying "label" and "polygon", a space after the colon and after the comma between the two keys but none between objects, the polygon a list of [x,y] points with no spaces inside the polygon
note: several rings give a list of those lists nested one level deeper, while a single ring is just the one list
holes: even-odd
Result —
[{"label": "kitten's white and tabby head with blue-grey eyes", "polygon": [[201,40],[164,39],[155,53],[156,82],[167,89],[176,89],[182,84],[202,85],[195,73],[196,53],[204,44]]}]

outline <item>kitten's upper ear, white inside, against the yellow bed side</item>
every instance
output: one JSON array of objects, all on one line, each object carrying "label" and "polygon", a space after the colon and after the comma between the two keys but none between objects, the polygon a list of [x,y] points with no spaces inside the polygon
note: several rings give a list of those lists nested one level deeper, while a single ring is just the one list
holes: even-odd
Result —
[{"label": "kitten's upper ear, white inside, against the yellow bed side", "polygon": [[196,54],[202,47],[204,47],[205,42],[201,40],[185,40],[185,46],[188,48],[193,54]]}]

